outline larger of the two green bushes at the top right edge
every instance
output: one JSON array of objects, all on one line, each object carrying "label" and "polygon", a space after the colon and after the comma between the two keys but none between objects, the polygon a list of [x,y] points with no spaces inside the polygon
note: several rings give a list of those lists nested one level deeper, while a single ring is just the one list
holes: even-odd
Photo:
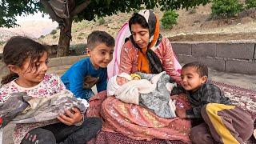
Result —
[{"label": "larger of the two green bushes at the top right edge", "polygon": [[238,0],[213,0],[211,6],[212,16],[234,17],[243,9],[243,5]]}]

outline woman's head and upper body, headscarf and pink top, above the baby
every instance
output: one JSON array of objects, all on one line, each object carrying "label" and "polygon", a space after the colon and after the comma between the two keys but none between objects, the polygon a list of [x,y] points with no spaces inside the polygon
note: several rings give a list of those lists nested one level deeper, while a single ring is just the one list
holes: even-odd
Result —
[{"label": "woman's head and upper body, headscarf and pink top, above the baby", "polygon": [[151,10],[141,10],[130,18],[132,35],[122,47],[119,73],[158,74],[166,71],[176,82],[181,81],[180,74],[174,69],[174,51],[168,38],[159,34],[159,25]]}]

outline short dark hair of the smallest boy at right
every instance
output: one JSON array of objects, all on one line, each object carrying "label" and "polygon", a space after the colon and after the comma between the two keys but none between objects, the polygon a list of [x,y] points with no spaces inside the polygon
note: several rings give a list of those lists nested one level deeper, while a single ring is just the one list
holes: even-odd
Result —
[{"label": "short dark hair of the smallest boy at right", "polygon": [[182,69],[186,67],[194,67],[197,69],[197,72],[200,77],[206,76],[208,77],[208,67],[201,62],[190,62],[187,63],[186,65],[182,66]]}]

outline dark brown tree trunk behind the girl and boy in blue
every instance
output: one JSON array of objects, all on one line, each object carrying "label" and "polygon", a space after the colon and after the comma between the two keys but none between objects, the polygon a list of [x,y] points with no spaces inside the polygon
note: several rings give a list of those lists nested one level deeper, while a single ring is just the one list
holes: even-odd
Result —
[{"label": "dark brown tree trunk behind the girl and boy in blue", "polygon": [[63,57],[69,54],[71,28],[72,28],[72,18],[66,19],[64,28],[61,29],[59,39],[58,39],[57,57]]}]

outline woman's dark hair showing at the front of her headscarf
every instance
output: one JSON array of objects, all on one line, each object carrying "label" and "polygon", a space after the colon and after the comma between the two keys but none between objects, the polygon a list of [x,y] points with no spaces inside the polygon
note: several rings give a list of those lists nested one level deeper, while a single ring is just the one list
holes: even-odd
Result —
[{"label": "woman's dark hair showing at the front of her headscarf", "polygon": [[146,19],[138,14],[138,13],[135,13],[129,20],[129,28],[131,29],[131,25],[133,24],[139,24],[140,26],[142,26],[142,28],[144,29],[150,29],[150,26],[149,24],[146,22]]}]

